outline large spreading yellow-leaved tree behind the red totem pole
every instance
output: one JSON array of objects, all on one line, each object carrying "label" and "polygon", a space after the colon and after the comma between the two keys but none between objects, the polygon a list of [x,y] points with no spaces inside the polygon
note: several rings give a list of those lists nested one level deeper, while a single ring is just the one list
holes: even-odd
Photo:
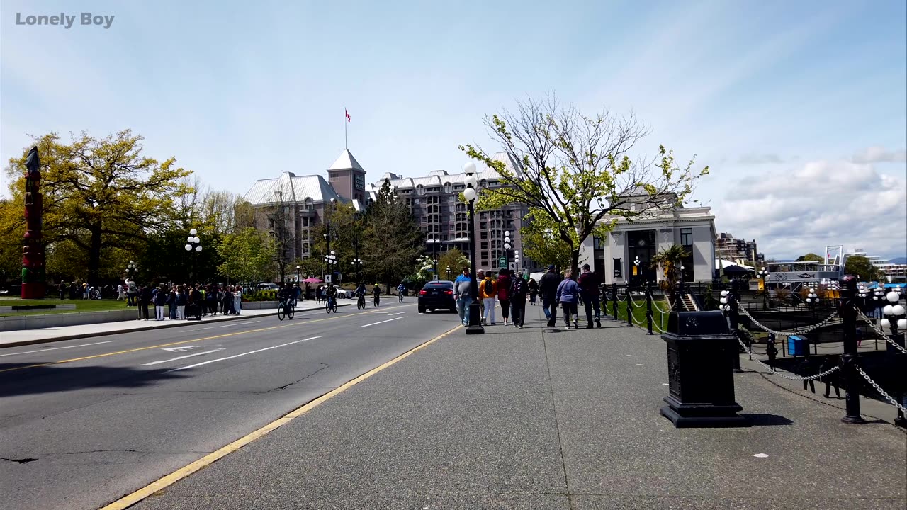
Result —
[{"label": "large spreading yellow-leaved tree behind the red totem pole", "polygon": [[[171,226],[173,199],[190,191],[180,181],[190,172],[178,168],[174,158],[158,162],[143,156],[141,140],[130,130],[105,138],[72,135],[68,144],[56,132],[34,137],[41,155],[49,265],[58,254],[74,251],[73,259],[81,263],[69,270],[83,269],[93,284],[102,277],[115,278],[128,260],[119,257],[140,251],[151,232]],[[3,210],[6,217],[0,224],[5,229],[21,230],[24,225],[19,206],[26,153],[10,159],[6,168],[13,205]]]}]

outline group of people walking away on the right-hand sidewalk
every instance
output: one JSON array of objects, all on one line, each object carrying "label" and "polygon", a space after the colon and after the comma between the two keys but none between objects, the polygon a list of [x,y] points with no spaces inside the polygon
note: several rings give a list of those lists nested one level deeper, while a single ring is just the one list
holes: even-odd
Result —
[{"label": "group of people walking away on the right-hand sidewalk", "polygon": [[[551,265],[540,281],[530,278],[529,274],[522,271],[517,274],[514,270],[507,269],[499,270],[497,275],[493,271],[478,270],[476,281],[476,295],[483,305],[482,323],[485,326],[497,325],[495,305],[500,304],[503,325],[522,328],[526,320],[527,299],[530,305],[535,306],[536,297],[541,296],[541,306],[549,328],[557,323],[559,306],[567,329],[570,329],[571,322],[573,328],[580,328],[580,303],[586,312],[586,328],[601,328],[601,282],[599,276],[590,270],[589,264],[583,265],[578,278],[570,270],[561,274]],[[472,285],[470,269],[463,268],[463,274],[453,282],[453,298],[463,326],[469,325],[469,306],[473,302]]]}]

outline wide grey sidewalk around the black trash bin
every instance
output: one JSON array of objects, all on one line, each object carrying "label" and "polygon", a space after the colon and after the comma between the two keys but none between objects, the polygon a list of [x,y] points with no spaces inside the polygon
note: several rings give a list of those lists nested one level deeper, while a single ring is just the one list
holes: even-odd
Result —
[{"label": "wide grey sidewalk around the black trash bin", "polygon": [[753,427],[674,428],[664,341],[602,325],[459,329],[134,508],[907,504],[902,431],[845,425],[755,371],[735,377]]}]

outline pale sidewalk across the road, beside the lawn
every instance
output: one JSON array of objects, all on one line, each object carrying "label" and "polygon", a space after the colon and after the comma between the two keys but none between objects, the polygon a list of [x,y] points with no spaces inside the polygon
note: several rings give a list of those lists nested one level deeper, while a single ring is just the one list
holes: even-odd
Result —
[{"label": "pale sidewalk across the road, beside the lawn", "polygon": [[[324,309],[324,304],[315,301],[299,301],[296,312],[301,313],[310,309]],[[352,306],[352,303],[337,302],[338,307]],[[151,314],[154,313],[154,307],[150,307]],[[240,320],[262,317],[267,315],[277,315],[278,310],[274,309],[243,309],[239,315],[215,315],[202,317],[201,320],[171,320],[164,319],[161,321],[149,320],[121,320],[117,322],[101,322],[98,324],[83,324],[81,326],[63,326],[60,328],[41,328],[41,329],[18,329],[15,331],[4,331],[0,333],[0,348],[10,348],[17,346],[26,346],[32,344],[43,344],[47,342],[57,342],[61,340],[72,340],[74,338],[92,338],[103,337],[106,335],[117,335],[120,333],[129,333],[132,331],[148,331],[150,329],[179,328],[181,326],[198,326],[201,323],[222,322],[225,320]],[[138,317],[138,311],[136,311]]]}]

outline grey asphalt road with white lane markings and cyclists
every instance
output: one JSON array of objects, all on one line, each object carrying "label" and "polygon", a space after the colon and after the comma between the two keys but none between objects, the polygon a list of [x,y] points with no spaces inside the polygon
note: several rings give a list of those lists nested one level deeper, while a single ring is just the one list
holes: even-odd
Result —
[{"label": "grey asphalt road with white lane markings and cyclists", "polygon": [[413,298],[0,349],[0,508],[97,508],[459,324]]}]

